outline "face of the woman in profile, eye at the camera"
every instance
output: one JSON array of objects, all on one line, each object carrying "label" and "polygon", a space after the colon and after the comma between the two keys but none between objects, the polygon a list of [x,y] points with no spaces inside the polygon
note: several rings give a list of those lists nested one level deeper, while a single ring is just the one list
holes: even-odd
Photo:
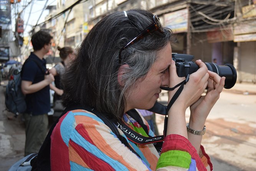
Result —
[{"label": "face of the woman in profile, eye at the camera", "polygon": [[131,87],[130,94],[126,97],[127,110],[150,109],[159,98],[160,86],[168,87],[169,66],[172,61],[172,48],[170,43],[159,51],[158,58],[149,69],[145,79],[135,87]]}]

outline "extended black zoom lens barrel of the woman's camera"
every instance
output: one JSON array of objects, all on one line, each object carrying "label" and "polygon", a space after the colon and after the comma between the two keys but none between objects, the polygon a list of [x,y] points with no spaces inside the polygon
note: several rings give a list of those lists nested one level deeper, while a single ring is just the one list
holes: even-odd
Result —
[{"label": "extended black zoom lens barrel of the woman's camera", "polygon": [[218,65],[211,62],[205,62],[209,71],[215,72],[220,77],[226,77],[225,79],[225,89],[231,89],[236,84],[236,69],[231,64]]}]

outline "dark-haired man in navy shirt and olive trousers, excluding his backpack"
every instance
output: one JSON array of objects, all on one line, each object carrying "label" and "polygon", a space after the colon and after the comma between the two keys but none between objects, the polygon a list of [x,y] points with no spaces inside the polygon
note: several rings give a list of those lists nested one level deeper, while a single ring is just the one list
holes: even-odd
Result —
[{"label": "dark-haired man in navy shirt and olive trousers, excluding his backpack", "polygon": [[54,81],[53,74],[47,74],[46,60],[43,58],[51,48],[53,37],[45,31],[38,31],[32,35],[31,43],[34,52],[28,58],[37,60],[46,72],[43,73],[36,62],[32,60],[27,61],[23,66],[21,90],[26,95],[25,156],[38,153],[47,134],[50,84]]}]

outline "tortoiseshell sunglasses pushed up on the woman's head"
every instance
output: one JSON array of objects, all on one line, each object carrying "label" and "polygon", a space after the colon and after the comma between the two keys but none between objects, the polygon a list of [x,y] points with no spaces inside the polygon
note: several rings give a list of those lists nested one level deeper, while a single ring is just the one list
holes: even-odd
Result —
[{"label": "tortoiseshell sunglasses pushed up on the woman's head", "polygon": [[144,38],[145,36],[148,36],[150,33],[154,32],[156,30],[159,30],[161,33],[164,33],[164,28],[163,28],[162,24],[160,23],[159,18],[157,17],[157,15],[154,15],[153,23],[151,23],[149,26],[147,26],[147,28],[145,28],[145,30],[143,30],[139,35],[137,35],[134,39],[132,39],[129,43],[127,43],[124,47],[122,47],[122,49],[120,49],[119,64],[122,63],[121,53],[124,49],[126,49],[131,44],[136,43],[137,41]]}]

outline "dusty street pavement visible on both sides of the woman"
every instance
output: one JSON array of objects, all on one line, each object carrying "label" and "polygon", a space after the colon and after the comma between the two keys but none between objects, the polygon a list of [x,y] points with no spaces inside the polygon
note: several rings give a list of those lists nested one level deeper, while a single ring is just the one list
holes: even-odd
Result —
[{"label": "dusty street pavement visible on both sides of the woman", "polygon": [[[245,85],[245,86],[243,86]],[[234,87],[235,88],[235,87]],[[0,86],[0,170],[7,171],[24,155],[25,125],[22,117],[5,109],[4,87]],[[254,91],[255,90],[255,91]],[[165,94],[160,100],[167,103]],[[238,84],[224,90],[206,121],[203,146],[210,155],[215,171],[256,170],[256,85]],[[189,110],[186,118],[189,118]],[[50,121],[52,118],[50,118]],[[157,115],[159,132],[164,117]]]}]

